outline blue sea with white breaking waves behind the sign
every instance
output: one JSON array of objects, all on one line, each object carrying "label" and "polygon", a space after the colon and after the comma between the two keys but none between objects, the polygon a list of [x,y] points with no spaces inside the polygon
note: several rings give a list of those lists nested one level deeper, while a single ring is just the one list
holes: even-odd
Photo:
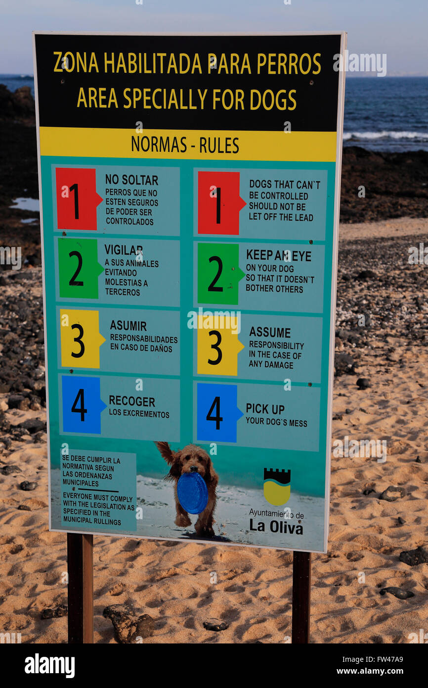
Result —
[{"label": "blue sea with white breaking waves behind the sign", "polygon": [[[0,74],[10,91],[30,86],[30,74]],[[346,80],[343,145],[371,151],[428,151],[428,76]]]}]

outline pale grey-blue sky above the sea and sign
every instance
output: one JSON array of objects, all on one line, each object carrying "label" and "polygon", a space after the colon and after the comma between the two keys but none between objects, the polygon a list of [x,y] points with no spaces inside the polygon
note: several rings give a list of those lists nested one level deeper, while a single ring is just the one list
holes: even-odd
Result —
[{"label": "pale grey-blue sky above the sea and sign", "polygon": [[[288,0],[285,0],[288,1]],[[32,74],[39,31],[347,31],[350,53],[387,54],[387,75],[428,74],[427,0],[0,0],[0,73]]]}]

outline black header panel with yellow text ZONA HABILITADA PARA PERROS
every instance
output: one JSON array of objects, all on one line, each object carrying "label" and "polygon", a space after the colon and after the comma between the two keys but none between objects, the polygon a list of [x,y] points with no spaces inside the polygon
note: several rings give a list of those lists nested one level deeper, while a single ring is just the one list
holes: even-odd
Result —
[{"label": "black header panel with yellow text ZONA HABILITADA PARA PERROS", "polygon": [[36,34],[40,125],[336,131],[340,40]]}]

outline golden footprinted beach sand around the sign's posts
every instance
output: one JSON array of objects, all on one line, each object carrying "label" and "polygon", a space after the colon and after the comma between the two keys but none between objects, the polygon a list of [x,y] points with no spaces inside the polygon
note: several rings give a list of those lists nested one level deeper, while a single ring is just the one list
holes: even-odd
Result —
[{"label": "golden footprinted beach sand around the sign's posts", "polygon": [[[354,363],[335,378],[333,440],[387,440],[387,460],[332,458],[328,553],[312,564],[312,643],[399,644],[428,632],[428,564],[399,559],[428,540],[428,287],[423,266],[407,264],[407,247],[427,230],[427,220],[406,218],[341,228],[336,343]],[[368,267],[376,283],[357,277]],[[40,279],[40,268],[27,272]],[[372,325],[355,334],[359,312]],[[358,389],[359,377],[371,386]],[[0,405],[8,396],[0,394]],[[16,425],[43,413],[5,409],[5,419]],[[67,641],[67,616],[41,619],[46,608],[67,604],[66,536],[47,526],[45,440],[24,433],[0,455],[0,630],[21,632],[23,643]],[[8,465],[21,471],[3,475]],[[36,489],[19,489],[23,480]],[[385,501],[388,486],[405,494]],[[289,642],[291,561],[281,550],[97,535],[95,643],[116,642],[102,612],[117,603],[153,617],[145,643]],[[388,586],[414,596],[381,595]],[[205,630],[212,619],[229,627]]]}]

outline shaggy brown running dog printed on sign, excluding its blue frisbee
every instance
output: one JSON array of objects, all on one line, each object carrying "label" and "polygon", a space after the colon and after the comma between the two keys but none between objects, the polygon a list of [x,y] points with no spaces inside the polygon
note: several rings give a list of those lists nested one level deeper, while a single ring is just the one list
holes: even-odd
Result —
[{"label": "shaggy brown running dog printed on sign, excluding its blue frisbee", "polygon": [[174,498],[177,513],[174,523],[179,528],[186,528],[186,526],[192,525],[187,511],[183,509],[179,502],[177,482],[183,473],[199,473],[203,480],[205,480],[208,489],[208,502],[203,512],[199,514],[198,520],[194,524],[194,529],[196,530],[196,535],[214,537],[215,534],[212,526],[215,523],[214,510],[216,508],[218,475],[214,471],[210,456],[201,447],[196,447],[195,444],[188,444],[184,449],[179,449],[179,451],[172,451],[168,442],[155,442],[155,444],[168,466],[170,466],[170,471],[164,480],[174,482]]}]

